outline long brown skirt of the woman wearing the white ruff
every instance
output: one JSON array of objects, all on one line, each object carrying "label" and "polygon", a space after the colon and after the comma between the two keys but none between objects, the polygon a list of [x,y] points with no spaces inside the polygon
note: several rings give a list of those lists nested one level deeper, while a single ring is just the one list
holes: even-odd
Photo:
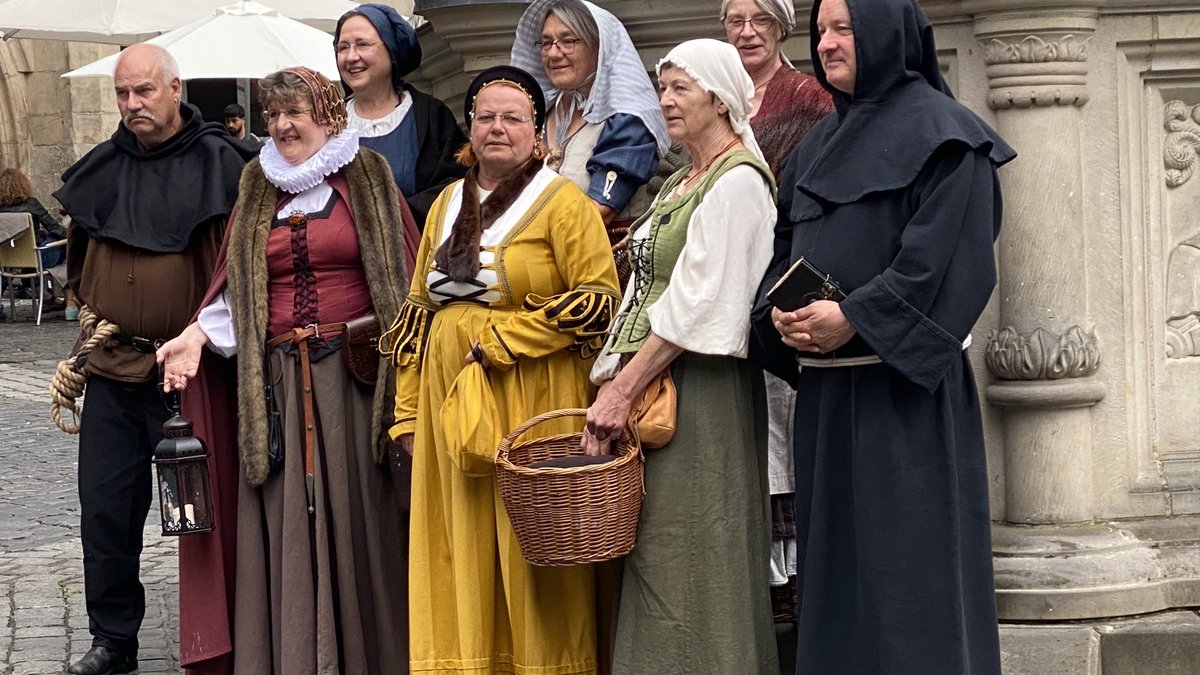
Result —
[{"label": "long brown skirt of the woman wearing the white ruff", "polygon": [[282,471],[240,482],[234,671],[408,673],[408,514],[372,460],[370,388],[338,354],[312,364],[314,507],[305,486],[299,360],[270,357],[283,420]]}]

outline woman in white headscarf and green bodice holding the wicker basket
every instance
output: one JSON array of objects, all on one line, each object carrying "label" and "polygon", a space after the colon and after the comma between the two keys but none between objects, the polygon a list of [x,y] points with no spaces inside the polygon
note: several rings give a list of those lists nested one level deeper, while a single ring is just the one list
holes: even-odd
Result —
[{"label": "woman in white headscarf and green bodice holding the wicker basket", "polygon": [[583,448],[608,452],[662,369],[674,438],[646,456],[637,545],[624,561],[613,673],[779,670],[767,587],[762,371],[746,360],[772,257],[775,183],[750,130],[737,49],[692,40],[658,65],[660,103],[692,163],[631,228],[634,277],[604,353]]}]

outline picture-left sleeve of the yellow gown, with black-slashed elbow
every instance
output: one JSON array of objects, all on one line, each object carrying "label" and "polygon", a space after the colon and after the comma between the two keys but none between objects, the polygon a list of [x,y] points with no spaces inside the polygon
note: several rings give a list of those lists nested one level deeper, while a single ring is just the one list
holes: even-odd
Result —
[{"label": "picture-left sleeve of the yellow gown, with black-slashed elbow", "polygon": [[[442,213],[445,208],[445,190],[433,203],[431,213]],[[425,347],[428,344],[430,323],[437,305],[430,300],[426,286],[426,271],[434,246],[432,238],[437,227],[427,227],[421,235],[421,245],[416,252],[416,264],[413,267],[413,280],[409,283],[408,297],[400,307],[400,313],[388,330],[379,338],[379,352],[396,366],[396,406],[395,424],[388,435],[398,441],[404,434],[416,430],[416,400],[420,394],[421,365],[425,360]]]}]

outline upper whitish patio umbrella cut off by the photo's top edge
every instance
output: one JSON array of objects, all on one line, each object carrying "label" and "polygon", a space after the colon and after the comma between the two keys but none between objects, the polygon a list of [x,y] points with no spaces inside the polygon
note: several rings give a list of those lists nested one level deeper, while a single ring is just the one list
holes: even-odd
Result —
[{"label": "upper whitish patio umbrella cut off by the photo's top edge", "polygon": [[[133,44],[212,16],[232,0],[7,0],[0,1],[4,38],[70,40]],[[358,2],[272,0],[281,14],[322,30]]]}]

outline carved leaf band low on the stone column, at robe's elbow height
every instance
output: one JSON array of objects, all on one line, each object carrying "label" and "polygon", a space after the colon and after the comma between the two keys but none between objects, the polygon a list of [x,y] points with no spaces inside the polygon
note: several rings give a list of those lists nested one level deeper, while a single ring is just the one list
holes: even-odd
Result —
[{"label": "carved leaf band low on the stone column, at robe's elbow height", "polygon": [[1100,368],[1094,333],[1073,325],[1056,335],[1043,328],[1021,335],[1006,327],[988,336],[988,370],[997,380],[1039,381],[1088,377]]}]

